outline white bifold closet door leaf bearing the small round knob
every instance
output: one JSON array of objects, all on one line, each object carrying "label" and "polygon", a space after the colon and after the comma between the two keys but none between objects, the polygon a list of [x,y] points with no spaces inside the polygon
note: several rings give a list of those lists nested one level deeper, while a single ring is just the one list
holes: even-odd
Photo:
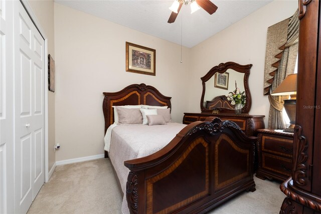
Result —
[{"label": "white bifold closet door leaf bearing the small round knob", "polygon": [[32,51],[27,13],[16,3],[15,19],[15,212],[26,213],[33,201]]}]

